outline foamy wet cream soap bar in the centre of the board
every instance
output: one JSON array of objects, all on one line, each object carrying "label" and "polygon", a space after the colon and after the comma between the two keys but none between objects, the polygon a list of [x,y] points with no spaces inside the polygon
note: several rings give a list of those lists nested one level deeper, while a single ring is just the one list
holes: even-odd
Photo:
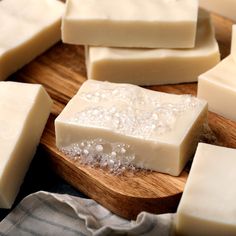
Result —
[{"label": "foamy wet cream soap bar in the centre of the board", "polygon": [[[56,145],[71,155],[80,146],[89,156],[97,142],[106,149],[99,156],[126,153],[136,167],[177,176],[195,151],[206,116],[207,103],[190,95],[87,80],[55,120]],[[116,151],[116,143],[125,148]]]}]

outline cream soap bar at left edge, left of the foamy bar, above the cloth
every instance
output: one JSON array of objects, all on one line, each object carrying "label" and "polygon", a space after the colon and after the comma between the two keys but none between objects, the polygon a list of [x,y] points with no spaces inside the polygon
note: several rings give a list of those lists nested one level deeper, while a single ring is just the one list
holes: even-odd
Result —
[{"label": "cream soap bar at left edge, left of the foamy bar, above the cloth", "polygon": [[0,82],[0,208],[10,208],[50,114],[41,85]]}]

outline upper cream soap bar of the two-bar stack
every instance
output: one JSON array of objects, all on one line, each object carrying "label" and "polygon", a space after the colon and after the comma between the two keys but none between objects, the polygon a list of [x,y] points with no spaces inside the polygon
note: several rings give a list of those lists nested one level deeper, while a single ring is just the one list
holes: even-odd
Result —
[{"label": "upper cream soap bar of the two-bar stack", "polygon": [[145,48],[192,48],[197,0],[67,0],[65,43]]}]

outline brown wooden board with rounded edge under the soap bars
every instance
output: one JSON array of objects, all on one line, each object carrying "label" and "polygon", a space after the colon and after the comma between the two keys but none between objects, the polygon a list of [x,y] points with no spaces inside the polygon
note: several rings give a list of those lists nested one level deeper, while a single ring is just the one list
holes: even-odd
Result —
[{"label": "brown wooden board with rounded edge under the soap bars", "polygon": [[[229,54],[232,23],[217,16],[213,17],[213,21],[223,58]],[[10,79],[41,83],[53,98],[53,111],[41,147],[48,154],[52,168],[66,181],[125,218],[135,218],[141,211],[165,213],[176,210],[188,176],[187,170],[179,177],[147,171],[114,176],[100,169],[73,163],[56,149],[54,119],[86,79],[82,47],[58,43]],[[158,91],[193,95],[196,95],[196,88],[195,83],[150,87]],[[235,122],[209,113],[209,123],[220,145],[236,148]]]}]

